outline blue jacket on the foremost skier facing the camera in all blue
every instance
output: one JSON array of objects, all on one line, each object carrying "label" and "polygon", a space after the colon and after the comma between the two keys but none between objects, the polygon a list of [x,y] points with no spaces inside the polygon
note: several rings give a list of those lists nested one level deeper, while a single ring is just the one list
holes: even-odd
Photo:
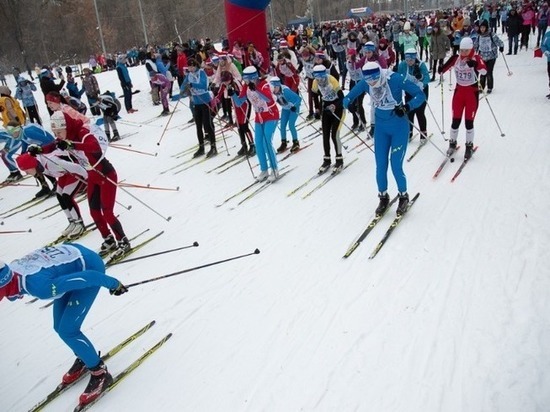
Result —
[{"label": "blue jacket on the foremost skier facing the camera in all blue", "polygon": [[[412,99],[407,102],[410,110],[415,110],[426,101],[426,95],[411,80],[406,79],[402,74],[394,73],[388,69],[382,69],[382,76],[386,76],[387,86],[389,86],[391,91],[391,96],[387,96],[387,104],[384,106],[375,105],[375,121],[378,120],[389,120],[392,117],[395,118],[397,115],[394,113],[393,108],[395,105],[399,105],[403,102],[403,92],[406,92],[412,96]],[[361,80],[350,92],[346,95],[343,101],[344,108],[348,108],[349,104],[354,101],[362,93],[369,93],[370,86],[365,80]]]}]

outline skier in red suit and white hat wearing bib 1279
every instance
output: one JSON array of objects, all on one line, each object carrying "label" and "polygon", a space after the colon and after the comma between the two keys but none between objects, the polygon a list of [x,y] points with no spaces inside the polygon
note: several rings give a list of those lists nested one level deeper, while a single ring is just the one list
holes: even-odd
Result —
[{"label": "skier in red suit and white hat wearing bib 1279", "polygon": [[460,41],[460,50],[447,60],[439,73],[454,69],[456,75],[456,88],[452,100],[452,123],[449,139],[448,155],[456,150],[458,128],[464,114],[466,125],[466,151],[464,159],[472,157],[474,148],[474,119],[479,106],[478,76],[485,75],[487,68],[485,62],[474,50],[474,43],[470,37],[464,37]]}]

